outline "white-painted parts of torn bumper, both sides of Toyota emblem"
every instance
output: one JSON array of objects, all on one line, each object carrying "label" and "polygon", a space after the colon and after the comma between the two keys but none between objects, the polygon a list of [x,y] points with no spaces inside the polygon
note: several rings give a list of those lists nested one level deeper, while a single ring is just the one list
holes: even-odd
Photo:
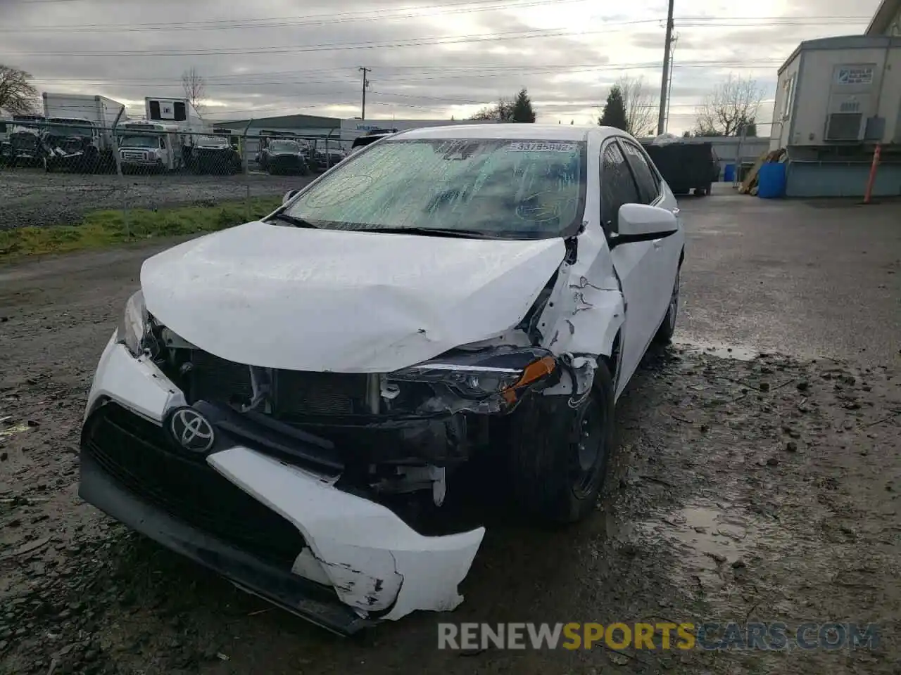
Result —
[{"label": "white-painted parts of torn bumper, both sides of Toyota emblem", "polygon": [[[111,399],[157,422],[185,405],[182,392],[149,359],[107,344],[87,410]],[[225,478],[293,523],[308,549],[293,572],[332,585],[361,613],[398,619],[423,609],[448,611],[462,601],[457,587],[469,572],[485,528],[422,536],[389,509],[333,486],[334,478],[304,471],[244,447],[208,457]]]}]

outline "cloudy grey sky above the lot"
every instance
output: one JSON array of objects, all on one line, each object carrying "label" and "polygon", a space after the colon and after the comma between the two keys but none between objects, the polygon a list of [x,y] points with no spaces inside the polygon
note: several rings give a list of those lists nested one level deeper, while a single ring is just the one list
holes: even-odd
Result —
[{"label": "cloudy grey sky above the lot", "polygon": [[[669,130],[695,124],[730,73],[769,121],[776,70],[800,40],[864,31],[878,0],[676,0]],[[140,113],[190,67],[207,115],[457,119],[527,87],[538,121],[596,120],[623,74],[660,93],[666,0],[0,0],[0,63],[41,91],[103,94]],[[767,126],[760,133],[769,132]]]}]

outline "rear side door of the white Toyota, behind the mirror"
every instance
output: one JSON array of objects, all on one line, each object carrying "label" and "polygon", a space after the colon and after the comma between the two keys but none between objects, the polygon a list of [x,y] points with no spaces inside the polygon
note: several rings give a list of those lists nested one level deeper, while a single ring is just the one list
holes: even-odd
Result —
[{"label": "rear side door of the white Toyota, behind the mirror", "polygon": [[[623,148],[626,161],[632,168],[643,202],[672,211],[678,218],[676,200],[668,195],[663,186],[663,179],[644,150],[630,139],[619,139],[619,144]],[[651,255],[654,263],[649,270],[647,281],[655,289],[652,301],[653,311],[651,312],[652,316],[656,318],[655,331],[657,327],[660,327],[660,322],[666,316],[669,308],[680,251],[681,239],[678,237],[663,237],[651,241]]]}]

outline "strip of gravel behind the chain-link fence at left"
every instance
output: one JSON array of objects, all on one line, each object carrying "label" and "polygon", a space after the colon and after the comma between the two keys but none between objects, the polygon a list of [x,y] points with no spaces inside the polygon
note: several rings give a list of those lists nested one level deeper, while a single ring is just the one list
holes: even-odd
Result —
[{"label": "strip of gravel behind the chain-link fence at left", "polygon": [[280,195],[311,175],[89,175],[0,171],[0,229],[71,225],[87,211],[160,209]]}]

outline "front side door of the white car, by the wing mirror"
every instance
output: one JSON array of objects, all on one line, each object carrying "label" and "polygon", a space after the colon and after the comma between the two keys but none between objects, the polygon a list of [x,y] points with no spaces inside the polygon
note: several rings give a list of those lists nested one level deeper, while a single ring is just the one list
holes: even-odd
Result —
[{"label": "front side door of the white car, by the wing mirror", "polygon": [[[642,203],[632,169],[615,139],[601,149],[601,223],[608,238],[619,230],[619,210],[623,204]],[[616,395],[629,382],[644,351],[660,325],[656,320],[654,246],[637,241],[614,247],[610,252],[625,300],[625,323],[620,337],[620,365]],[[656,321],[656,323],[655,323]]]}]

